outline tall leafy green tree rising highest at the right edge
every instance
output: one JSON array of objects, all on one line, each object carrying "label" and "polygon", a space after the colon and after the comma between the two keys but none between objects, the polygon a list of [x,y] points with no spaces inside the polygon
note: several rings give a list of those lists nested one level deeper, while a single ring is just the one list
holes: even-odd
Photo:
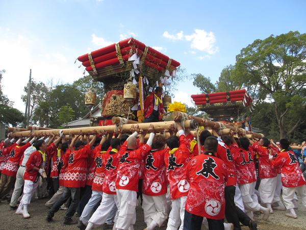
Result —
[{"label": "tall leafy green tree rising highest at the right edge", "polygon": [[[274,105],[281,138],[290,137],[305,123],[298,114],[306,103],[306,34],[290,31],[271,35],[243,48],[236,57],[236,78],[256,89],[259,100]],[[289,121],[294,110],[294,121]]]}]

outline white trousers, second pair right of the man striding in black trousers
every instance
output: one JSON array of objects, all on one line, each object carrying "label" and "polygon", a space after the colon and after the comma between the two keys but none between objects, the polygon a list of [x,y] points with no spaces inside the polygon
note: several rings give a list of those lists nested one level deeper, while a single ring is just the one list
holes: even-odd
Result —
[{"label": "white trousers, second pair right of the man striding in black trousers", "polygon": [[272,203],[277,177],[263,178],[260,181],[259,194],[262,203]]}]

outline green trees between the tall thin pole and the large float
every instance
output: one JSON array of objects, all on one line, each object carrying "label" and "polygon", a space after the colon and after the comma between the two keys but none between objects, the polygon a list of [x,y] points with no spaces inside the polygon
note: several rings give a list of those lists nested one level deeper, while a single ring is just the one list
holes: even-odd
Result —
[{"label": "green trees between the tall thin pole and the large float", "polygon": [[[63,123],[83,118],[88,113],[85,106],[85,92],[92,87],[99,103],[104,95],[103,83],[91,82],[84,76],[73,83],[49,87],[43,82],[32,81],[30,123],[41,127],[59,127]],[[21,99],[27,101],[28,87],[24,87]],[[63,116],[63,112],[67,112]]]}]

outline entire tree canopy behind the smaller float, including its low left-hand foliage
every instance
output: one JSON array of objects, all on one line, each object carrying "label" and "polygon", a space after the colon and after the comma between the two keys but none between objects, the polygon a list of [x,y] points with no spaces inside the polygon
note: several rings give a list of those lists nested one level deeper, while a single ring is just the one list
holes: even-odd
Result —
[{"label": "entire tree canopy behind the smaller float, including its low left-hand foliage", "polygon": [[215,84],[209,77],[194,76],[193,84],[202,93],[245,88],[257,104],[254,126],[265,135],[306,135],[306,34],[290,31],[255,40],[236,56],[235,65],[222,70]]}]

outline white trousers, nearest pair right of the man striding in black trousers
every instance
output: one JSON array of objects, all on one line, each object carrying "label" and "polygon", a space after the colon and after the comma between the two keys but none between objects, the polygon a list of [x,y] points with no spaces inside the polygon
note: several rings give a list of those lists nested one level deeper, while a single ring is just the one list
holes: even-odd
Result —
[{"label": "white trousers, nearest pair right of the man striding in black trousers", "polygon": [[260,204],[258,203],[257,196],[255,195],[255,186],[256,181],[239,185],[246,212],[260,211]]}]

